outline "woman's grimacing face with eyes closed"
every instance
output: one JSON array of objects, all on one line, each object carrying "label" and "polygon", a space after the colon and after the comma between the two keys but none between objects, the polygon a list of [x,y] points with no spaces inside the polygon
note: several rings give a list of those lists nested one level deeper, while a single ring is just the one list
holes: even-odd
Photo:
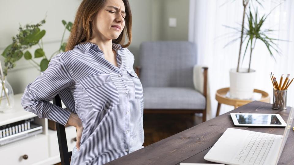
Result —
[{"label": "woman's grimacing face with eyes closed", "polygon": [[122,0],[107,0],[94,21],[94,37],[117,39],[125,27],[125,5]]}]

